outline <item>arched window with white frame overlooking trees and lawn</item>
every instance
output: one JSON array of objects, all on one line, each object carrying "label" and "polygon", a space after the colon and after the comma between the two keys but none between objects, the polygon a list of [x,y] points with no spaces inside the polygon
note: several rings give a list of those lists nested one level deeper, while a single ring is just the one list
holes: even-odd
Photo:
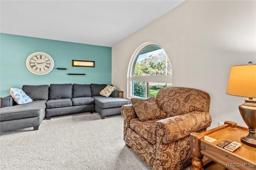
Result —
[{"label": "arched window with white frame overlooking trees and lawn", "polygon": [[172,65],[162,47],[148,42],[136,49],[129,64],[128,85],[128,97],[143,98],[172,86]]}]

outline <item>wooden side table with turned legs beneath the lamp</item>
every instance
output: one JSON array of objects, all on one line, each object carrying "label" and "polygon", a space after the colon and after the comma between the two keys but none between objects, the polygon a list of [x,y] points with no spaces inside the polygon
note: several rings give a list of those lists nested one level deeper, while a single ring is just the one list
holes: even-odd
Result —
[{"label": "wooden side table with turned legs beneath the lamp", "polygon": [[[192,153],[192,165],[190,169],[256,170],[256,148],[242,144],[240,148],[230,152],[216,146],[216,144],[224,140],[240,142],[240,137],[247,134],[248,128],[239,126],[231,121],[226,121],[224,125],[203,133],[191,133],[190,150]],[[210,143],[204,140],[204,136],[210,136],[216,139],[216,141]],[[202,162],[203,156],[206,156],[209,160]]]}]

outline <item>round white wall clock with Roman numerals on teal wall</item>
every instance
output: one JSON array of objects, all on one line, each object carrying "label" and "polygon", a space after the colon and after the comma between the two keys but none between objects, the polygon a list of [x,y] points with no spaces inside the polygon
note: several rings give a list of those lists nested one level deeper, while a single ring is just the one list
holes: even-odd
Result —
[{"label": "round white wall clock with Roman numerals on teal wall", "polygon": [[26,59],[27,69],[34,74],[44,75],[50,73],[54,67],[52,57],[44,52],[35,52]]}]

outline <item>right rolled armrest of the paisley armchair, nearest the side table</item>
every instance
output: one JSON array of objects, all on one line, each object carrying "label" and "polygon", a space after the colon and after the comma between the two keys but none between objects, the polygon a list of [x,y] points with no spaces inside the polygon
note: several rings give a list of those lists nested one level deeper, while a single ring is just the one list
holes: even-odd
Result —
[{"label": "right rolled armrest of the paisley armchair, nearest the side table", "polygon": [[192,132],[206,129],[210,127],[211,123],[212,118],[208,112],[196,111],[159,120],[154,124],[154,131],[157,140],[162,140],[162,143],[170,143],[184,138]]}]

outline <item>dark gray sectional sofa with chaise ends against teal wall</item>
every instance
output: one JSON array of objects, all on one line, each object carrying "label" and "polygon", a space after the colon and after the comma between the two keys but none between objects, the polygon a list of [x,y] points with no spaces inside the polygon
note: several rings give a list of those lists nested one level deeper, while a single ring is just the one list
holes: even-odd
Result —
[{"label": "dark gray sectional sofa with chaise ends against teal wall", "polygon": [[110,97],[100,95],[106,84],[50,84],[23,85],[22,90],[33,100],[18,105],[11,96],[2,98],[0,108],[0,131],[19,128],[38,127],[44,117],[70,113],[96,111],[104,119],[109,115],[121,113],[122,105],[129,104],[119,98],[119,91],[113,91]]}]

